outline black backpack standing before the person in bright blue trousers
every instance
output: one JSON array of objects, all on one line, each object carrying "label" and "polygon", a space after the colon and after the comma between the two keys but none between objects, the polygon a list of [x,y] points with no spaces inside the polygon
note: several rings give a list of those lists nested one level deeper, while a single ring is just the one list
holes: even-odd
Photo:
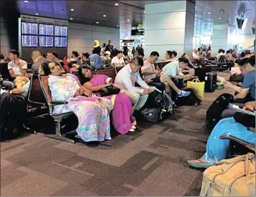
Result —
[{"label": "black backpack standing before the person in bright blue trousers", "polygon": [[206,112],[206,128],[214,129],[215,125],[221,120],[221,113],[227,109],[229,102],[234,102],[233,95],[225,93],[217,97]]}]

